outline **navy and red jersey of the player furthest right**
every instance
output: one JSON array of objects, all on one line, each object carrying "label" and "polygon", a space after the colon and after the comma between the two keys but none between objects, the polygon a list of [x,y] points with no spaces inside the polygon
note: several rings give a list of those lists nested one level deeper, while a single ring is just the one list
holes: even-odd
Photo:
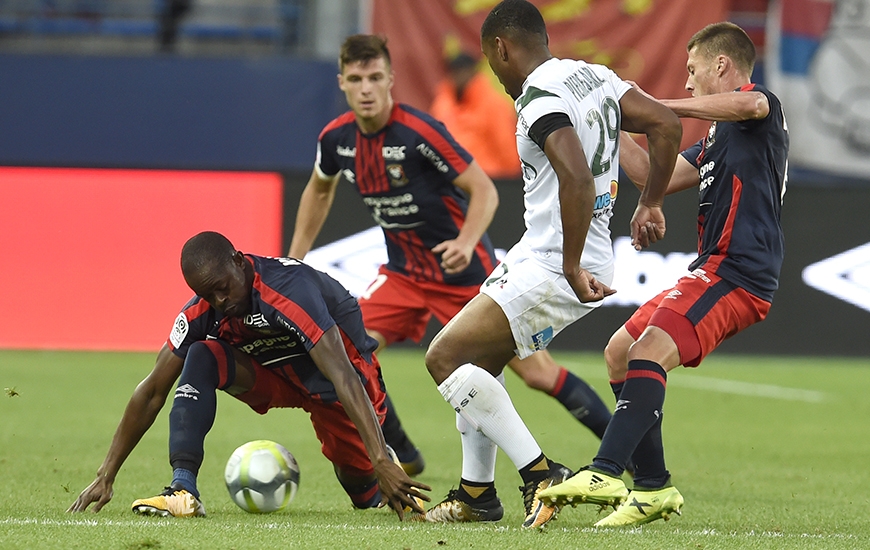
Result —
[{"label": "navy and red jersey of the player furthest right", "polygon": [[773,301],[784,239],[780,210],[788,166],[788,127],[779,99],[758,84],[738,92],[767,96],[761,120],[714,122],[682,155],[700,173],[698,258],[689,269],[718,274]]}]

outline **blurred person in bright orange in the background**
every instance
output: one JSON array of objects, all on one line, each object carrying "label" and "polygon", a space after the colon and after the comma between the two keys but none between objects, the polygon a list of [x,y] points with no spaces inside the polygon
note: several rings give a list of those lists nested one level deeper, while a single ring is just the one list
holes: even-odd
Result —
[{"label": "blurred person in bright orange in the background", "polygon": [[438,84],[430,114],[447,126],[489,177],[519,178],[517,117],[509,98],[490,84],[471,55],[460,53],[447,67],[448,77]]}]

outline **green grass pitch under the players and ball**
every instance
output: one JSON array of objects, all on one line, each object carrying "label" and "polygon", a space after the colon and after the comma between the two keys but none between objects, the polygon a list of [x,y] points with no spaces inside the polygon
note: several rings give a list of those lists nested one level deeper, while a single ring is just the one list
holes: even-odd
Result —
[{"label": "green grass pitch under the players and ball", "polygon": [[[405,426],[424,451],[420,480],[437,502],[459,480],[453,411],[425,372],[422,350],[381,355]],[[555,354],[613,403],[600,354]],[[639,529],[595,529],[593,507],[567,508],[543,532],[519,528],[519,475],[499,454],[505,518],[485,525],[399,523],[355,511],[320,454],[306,415],[259,416],[220,394],[199,486],[206,518],[139,517],[130,503],[168,484],[168,412],[127,459],[99,514],[67,507],[93,479],[154,354],[0,351],[0,548],[870,548],[870,359],[714,354],[668,381],[668,466],[682,517]],[[508,374],[508,389],[544,451],[577,468],[598,442],[553,399]],[[283,512],[251,515],[223,484],[238,445],[273,439],[296,456],[301,484]]]}]

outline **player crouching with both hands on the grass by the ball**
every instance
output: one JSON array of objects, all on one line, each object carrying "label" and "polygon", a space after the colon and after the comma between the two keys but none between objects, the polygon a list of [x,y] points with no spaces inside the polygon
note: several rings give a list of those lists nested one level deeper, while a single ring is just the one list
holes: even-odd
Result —
[{"label": "player crouching with both hands on the grass by the ball", "polygon": [[98,512],[111,500],[118,470],[178,380],[169,414],[172,483],[158,496],[133,502],[134,512],[205,515],[196,477],[217,410],[216,390],[260,414],[305,409],[355,507],[386,501],[400,519],[411,510],[423,512],[417,499],[429,498],[418,489],[429,487],[410,479],[384,442],[377,342],[366,335],[347,290],[298,260],[242,254],[213,232],[187,241],[181,269],[197,295],[133,392],[97,478],[69,511],[96,503]]}]

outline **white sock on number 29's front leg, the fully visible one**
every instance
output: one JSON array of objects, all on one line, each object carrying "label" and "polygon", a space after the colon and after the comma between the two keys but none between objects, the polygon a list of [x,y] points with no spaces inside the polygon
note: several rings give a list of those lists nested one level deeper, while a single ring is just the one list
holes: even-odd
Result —
[{"label": "white sock on number 29's front leg, the fully visible one", "polygon": [[453,371],[438,390],[470,427],[498,445],[517,469],[541,454],[507,390],[489,372],[466,363]]}]

